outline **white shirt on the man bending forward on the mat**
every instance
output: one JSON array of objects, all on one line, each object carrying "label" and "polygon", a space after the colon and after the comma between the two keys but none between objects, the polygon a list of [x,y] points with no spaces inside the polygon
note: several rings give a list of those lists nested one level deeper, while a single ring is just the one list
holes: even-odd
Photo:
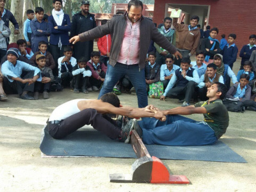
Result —
[{"label": "white shirt on the man bending forward on the mat", "polygon": [[54,111],[52,111],[52,114],[49,117],[49,122],[53,120],[59,120],[59,121],[64,120],[68,116],[71,116],[80,112],[80,109],[77,106],[77,103],[80,100],[90,100],[90,99],[74,99],[61,104],[56,109],[54,109]]}]

